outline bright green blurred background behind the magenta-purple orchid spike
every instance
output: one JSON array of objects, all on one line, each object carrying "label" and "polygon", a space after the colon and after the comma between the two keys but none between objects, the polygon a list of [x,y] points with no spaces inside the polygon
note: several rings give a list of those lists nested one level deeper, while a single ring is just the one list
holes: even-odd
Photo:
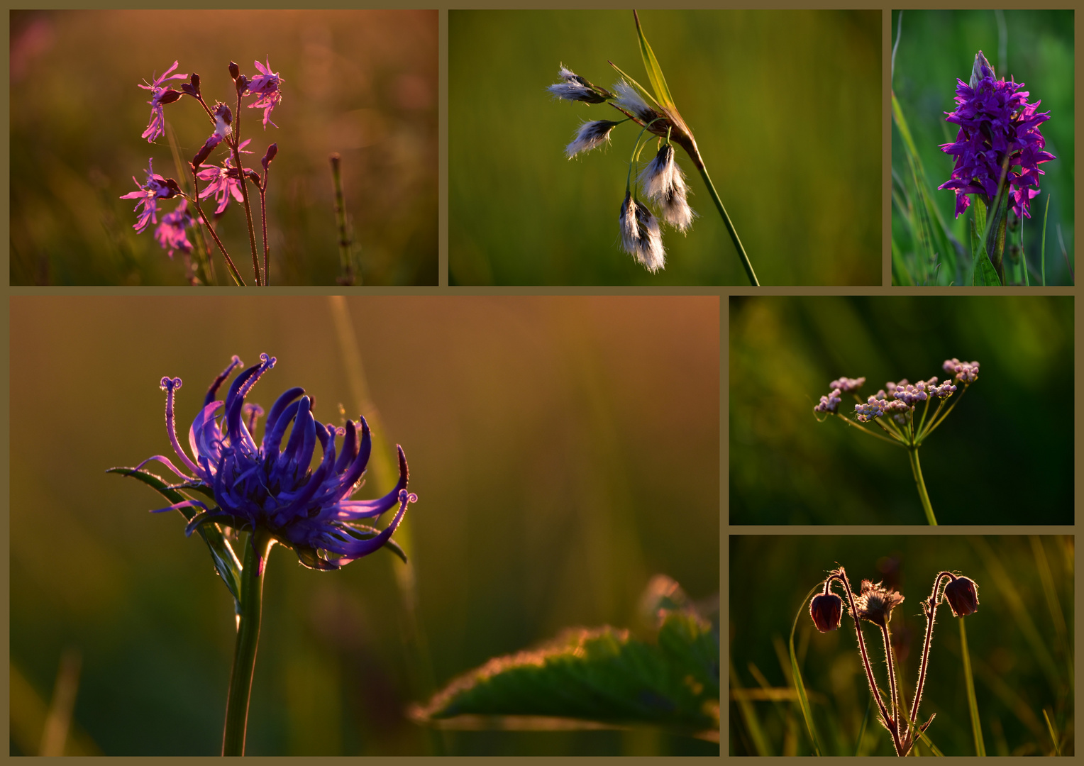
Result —
[{"label": "bright green blurred background behind the magenta-purple orchid spike", "polygon": [[[956,79],[971,76],[975,54],[980,50],[994,67],[997,77],[1023,82],[1029,103],[1041,100],[1041,112],[1050,119],[1041,126],[1046,150],[1056,160],[1040,166],[1042,194],[1031,200],[1031,219],[1024,219],[1024,251],[1032,268],[1032,284],[1038,280],[1040,245],[1046,196],[1050,213],[1046,232],[1046,284],[1071,284],[1069,267],[1061,255],[1058,228],[1070,262],[1073,259],[1073,167],[1075,141],[1073,113],[1073,11],[1004,11],[1004,36],[995,11],[905,11],[900,44],[895,53],[892,90],[900,102],[912,137],[918,148],[931,194],[953,236],[970,257],[968,221],[954,219],[956,195],[937,187],[952,176],[954,158],[939,147],[956,140],[957,126],[945,122],[946,112],[955,108]],[[892,11],[892,41],[896,40],[899,11]],[[1002,40],[1004,39],[1004,44]],[[909,179],[900,132],[892,128],[892,171]],[[894,185],[895,182],[893,182]],[[914,244],[900,211],[892,206],[892,237],[905,252]],[[1074,267],[1075,268],[1075,267]],[[955,276],[955,275],[953,275]],[[959,284],[959,280],[956,280]]]}]

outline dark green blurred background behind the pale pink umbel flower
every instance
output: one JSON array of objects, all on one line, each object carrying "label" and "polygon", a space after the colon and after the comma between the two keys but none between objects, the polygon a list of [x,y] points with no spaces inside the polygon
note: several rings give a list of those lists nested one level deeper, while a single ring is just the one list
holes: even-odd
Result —
[{"label": "dark green blurred background behind the pale pink umbel flower", "polygon": [[925,523],[906,451],[812,411],[840,376],[866,378],[864,401],[944,379],[954,356],[981,374],[919,450],[938,522],[1073,523],[1071,297],[732,297],[730,311],[731,523]]}]

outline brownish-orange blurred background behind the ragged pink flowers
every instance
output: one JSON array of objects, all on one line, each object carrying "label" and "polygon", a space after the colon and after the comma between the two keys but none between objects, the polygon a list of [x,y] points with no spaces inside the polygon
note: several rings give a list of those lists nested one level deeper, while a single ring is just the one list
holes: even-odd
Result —
[{"label": "brownish-orange blurred background behind the ragged pink flowers", "polygon": [[[253,139],[248,167],[279,144],[271,284],[335,284],[333,152],[365,284],[437,284],[437,13],[308,10],[12,11],[12,284],[184,284],[182,257],[170,261],[153,229],[136,234],[134,200],[119,199],[132,176],[143,182],[147,157],[181,180],[166,137],[140,138],[151,107],[137,85],[177,59],[205,99],[233,108],[227,65],[251,77],[268,56],[283,78],[280,127],[264,131],[262,112],[243,106],[241,135]],[[205,113],[182,98],[165,114],[191,159],[209,133]],[[243,206],[218,230],[250,283]],[[210,246],[219,284],[232,284]]]}]

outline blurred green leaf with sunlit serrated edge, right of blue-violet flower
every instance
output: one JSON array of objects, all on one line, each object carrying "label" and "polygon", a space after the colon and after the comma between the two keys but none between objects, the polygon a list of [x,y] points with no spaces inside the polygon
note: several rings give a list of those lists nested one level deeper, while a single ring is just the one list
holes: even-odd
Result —
[{"label": "blurred green leaf with sunlit serrated edge, right of blue-violet flower", "polygon": [[495,715],[718,729],[719,639],[691,611],[664,613],[655,642],[608,626],[570,628],[539,649],[493,658],[412,715],[425,724]]}]

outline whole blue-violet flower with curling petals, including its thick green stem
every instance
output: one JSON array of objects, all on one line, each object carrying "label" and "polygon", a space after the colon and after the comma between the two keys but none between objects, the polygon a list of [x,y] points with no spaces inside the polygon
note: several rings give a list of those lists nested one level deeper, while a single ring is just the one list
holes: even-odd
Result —
[{"label": "whole blue-violet flower with curling petals, including its thick green stem", "polygon": [[[175,427],[175,399],[181,379],[162,378],[167,437],[180,466],[170,457],[155,455],[127,470],[129,475],[147,476],[141,472],[142,467],[156,460],[182,482],[159,492],[171,499],[179,495],[179,490],[207,497],[205,502],[185,496],[154,511],[188,510],[191,519],[185,534],[195,531],[203,534],[208,528],[217,530],[217,525],[248,532],[240,582],[236,589],[231,586],[237,600],[237,639],[227,702],[223,755],[244,754],[262,582],[271,547],[279,543],[291,548],[304,566],[319,570],[339,569],[382,547],[403,556],[391,535],[402,522],[406,506],[417,499],[406,489],[409,471],[402,447],[397,447],[396,486],[378,499],[350,499],[362,484],[372,450],[369,425],[363,417],[357,423],[347,420],[345,426],[319,423],[312,413],[312,399],[305,389],[291,388],[279,397],[267,413],[263,436],[257,442],[254,433],[263,410],[246,403],[246,399],[274,364],[273,356],[260,354],[260,363],[241,372],[224,400],[218,400],[219,389],[242,366],[241,360],[233,358],[211,382],[204,405],[192,421],[191,455],[181,446]],[[336,449],[338,438],[343,440],[340,449]],[[322,457],[313,468],[318,444]],[[393,508],[398,510],[383,530],[363,523]],[[229,547],[228,543],[224,545]],[[229,557],[236,561],[232,549]],[[222,560],[216,558],[216,568],[221,568]]]}]

